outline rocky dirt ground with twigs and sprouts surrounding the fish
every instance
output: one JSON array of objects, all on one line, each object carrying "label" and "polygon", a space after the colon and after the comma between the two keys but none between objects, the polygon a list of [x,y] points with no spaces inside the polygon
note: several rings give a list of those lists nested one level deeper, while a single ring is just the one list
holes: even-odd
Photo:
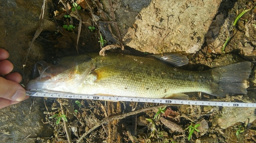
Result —
[{"label": "rocky dirt ground with twigs and sprouts surrounding the fish", "polygon": [[[75,1],[76,2],[76,1]],[[38,60],[96,51],[118,44],[133,55],[184,51],[187,70],[207,70],[256,58],[256,2],[248,1],[71,1],[10,0],[0,3],[0,47],[10,52],[22,85]],[[77,6],[78,9],[78,6]],[[234,19],[249,10],[232,26]],[[68,11],[70,13],[68,14]],[[40,20],[40,13],[41,18]],[[43,16],[44,15],[44,16]],[[65,17],[70,15],[70,17]],[[42,18],[44,17],[44,18]],[[44,22],[44,26],[38,26]],[[79,31],[79,23],[81,30]],[[75,26],[74,30],[63,25]],[[41,30],[41,31],[40,31]],[[38,35],[37,35],[37,32]],[[80,33],[80,34],[79,34]],[[33,41],[34,35],[38,37]],[[103,46],[98,42],[105,39]],[[77,43],[77,37],[79,42]],[[226,39],[231,37],[223,49]],[[253,68],[247,95],[214,97],[188,93],[190,100],[255,102]],[[30,97],[0,109],[1,142],[256,142],[255,108],[107,102]],[[67,122],[49,118],[57,113]],[[62,116],[63,117],[63,116]],[[189,126],[200,132],[191,132]]]}]

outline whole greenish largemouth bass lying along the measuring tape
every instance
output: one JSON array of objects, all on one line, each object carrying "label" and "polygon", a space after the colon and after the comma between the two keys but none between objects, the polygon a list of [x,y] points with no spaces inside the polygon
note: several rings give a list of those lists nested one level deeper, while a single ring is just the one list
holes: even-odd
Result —
[{"label": "whole greenish largemouth bass lying along the measuring tape", "polygon": [[[40,76],[26,89],[88,95],[187,99],[186,92],[214,96],[246,94],[250,62],[206,71],[188,71],[166,64],[188,63],[182,54],[156,54],[145,58],[119,53],[67,56],[50,63],[38,61]],[[165,62],[163,62],[165,61]]]}]

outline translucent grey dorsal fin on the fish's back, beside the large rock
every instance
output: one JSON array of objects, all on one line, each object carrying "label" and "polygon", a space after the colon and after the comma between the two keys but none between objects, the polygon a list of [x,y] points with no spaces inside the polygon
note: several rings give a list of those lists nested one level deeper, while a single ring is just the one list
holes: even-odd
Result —
[{"label": "translucent grey dorsal fin on the fish's back, beside the large rock", "polygon": [[159,60],[172,64],[173,66],[180,67],[188,64],[188,59],[181,53],[162,53],[151,55]]}]

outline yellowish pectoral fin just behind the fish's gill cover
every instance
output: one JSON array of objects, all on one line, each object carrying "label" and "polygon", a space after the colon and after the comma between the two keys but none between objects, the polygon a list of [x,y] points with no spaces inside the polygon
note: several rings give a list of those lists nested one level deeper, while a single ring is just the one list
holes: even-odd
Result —
[{"label": "yellowish pectoral fin just behind the fish's gill cover", "polygon": [[96,81],[120,75],[120,71],[116,70],[115,66],[112,65],[99,68],[97,70],[94,70],[92,73],[97,76]]}]

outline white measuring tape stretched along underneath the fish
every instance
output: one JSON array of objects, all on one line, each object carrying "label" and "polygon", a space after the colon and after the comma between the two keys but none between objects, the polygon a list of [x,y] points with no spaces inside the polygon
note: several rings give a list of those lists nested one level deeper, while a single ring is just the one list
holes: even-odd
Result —
[{"label": "white measuring tape stretched along underneath the fish", "polygon": [[27,91],[28,96],[35,97],[52,97],[52,98],[71,98],[71,99],[91,99],[105,101],[130,101],[130,102],[149,102],[163,104],[184,104],[184,105],[205,105],[205,106],[227,106],[227,107],[256,107],[256,103],[239,103],[239,102],[221,102],[221,101],[199,101],[199,100],[179,100],[179,99],[162,99],[162,98],[140,98],[124,96],[101,96],[101,95],[82,95],[82,94],[60,94]]}]

